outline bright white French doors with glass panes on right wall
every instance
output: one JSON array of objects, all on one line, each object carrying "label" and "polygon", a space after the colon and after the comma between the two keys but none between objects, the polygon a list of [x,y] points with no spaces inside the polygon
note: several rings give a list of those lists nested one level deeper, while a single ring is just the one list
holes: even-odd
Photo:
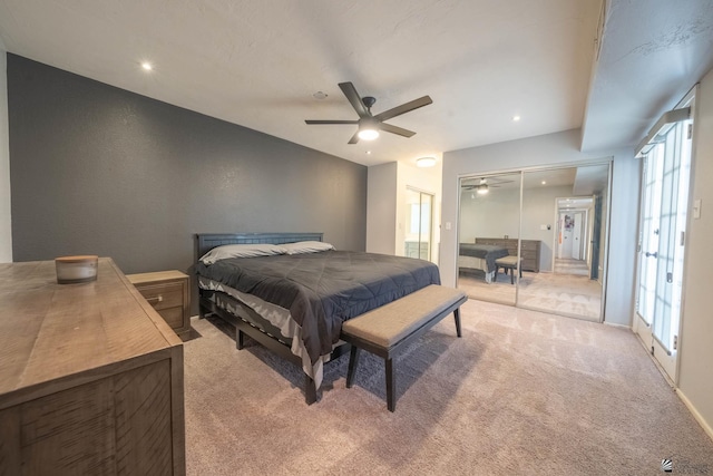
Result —
[{"label": "bright white French doors with glass panes on right wall", "polygon": [[644,156],[635,331],[673,381],[683,288],[692,120],[675,123]]}]

